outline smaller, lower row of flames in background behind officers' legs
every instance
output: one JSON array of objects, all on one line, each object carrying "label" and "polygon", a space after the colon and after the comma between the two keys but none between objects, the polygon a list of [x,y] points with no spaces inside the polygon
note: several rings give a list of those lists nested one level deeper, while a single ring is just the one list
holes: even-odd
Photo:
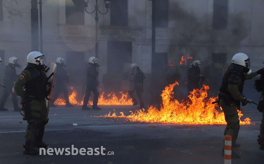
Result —
[{"label": "smaller, lower row of flames in background behind officers' legs", "polygon": [[[77,102],[77,91],[73,89],[73,87],[70,87],[72,90],[71,95],[69,96],[70,103],[73,105],[82,105],[83,101]],[[128,93],[124,94],[123,91],[119,92],[122,96],[120,99],[117,98],[116,94],[114,92],[111,92],[111,94],[108,94],[107,96],[109,99],[104,98],[104,92],[99,90],[100,97],[98,99],[98,105],[132,105],[133,102],[129,96]],[[66,101],[62,98],[57,98],[57,100],[54,102],[55,105],[65,105]],[[89,105],[92,105],[92,101],[88,102]]]}]

